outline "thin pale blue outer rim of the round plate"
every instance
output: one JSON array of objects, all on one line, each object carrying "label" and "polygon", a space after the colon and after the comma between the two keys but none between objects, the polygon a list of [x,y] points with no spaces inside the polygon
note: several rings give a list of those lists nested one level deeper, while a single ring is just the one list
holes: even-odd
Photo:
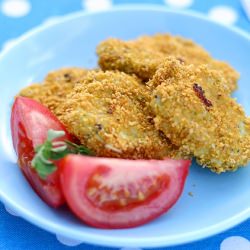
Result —
[{"label": "thin pale blue outer rim of the round plate", "polygon": [[[25,40],[35,36],[36,34],[50,27],[85,16],[91,16],[96,14],[98,15],[98,13],[112,13],[117,11],[153,11],[153,12],[164,12],[166,14],[172,13],[177,15],[179,14],[189,17],[195,17],[197,19],[202,19],[204,21],[214,23],[217,26],[221,26],[224,29],[230,30],[231,32],[244,37],[250,42],[250,34],[248,34],[246,31],[243,31],[237,27],[227,26],[221,23],[217,23],[216,21],[209,19],[206,15],[200,14],[193,10],[186,10],[186,11],[173,10],[168,8],[167,6],[156,5],[156,4],[121,4],[118,6],[112,6],[112,8],[107,10],[77,11],[63,16],[58,16],[58,19],[54,20],[51,23],[42,23],[41,25],[36,26],[31,30],[25,32],[20,37],[14,39],[12,45],[9,46],[8,48],[3,49],[3,51],[0,53],[0,61],[3,60],[4,57],[18,44],[24,42]],[[239,223],[250,218],[250,207],[249,207],[243,210],[241,213],[238,213],[235,216],[226,219],[220,223],[214,224],[208,228],[192,231],[189,233],[178,234],[176,236],[172,236],[171,238],[169,238],[168,236],[161,236],[161,237],[150,237],[150,238],[137,237],[136,239],[131,239],[119,236],[115,237],[114,240],[112,236],[100,236],[89,232],[84,232],[84,234],[83,232],[81,232],[80,234],[76,235],[74,232],[72,233],[68,232],[67,230],[60,228],[60,226],[56,225],[55,223],[44,220],[42,217],[36,217],[29,210],[23,209],[22,207],[18,206],[18,204],[16,204],[15,201],[9,199],[4,193],[1,192],[1,190],[0,190],[0,201],[2,201],[5,206],[16,212],[20,217],[38,226],[39,228],[42,228],[45,231],[48,231],[55,235],[60,235],[66,238],[70,238],[76,241],[80,240],[82,243],[89,243],[89,244],[108,246],[108,247],[111,246],[111,247],[152,248],[152,247],[167,247],[167,246],[187,244],[197,240],[205,239],[207,237],[211,237],[233,226],[236,226]],[[81,237],[79,238],[78,236]]]}]

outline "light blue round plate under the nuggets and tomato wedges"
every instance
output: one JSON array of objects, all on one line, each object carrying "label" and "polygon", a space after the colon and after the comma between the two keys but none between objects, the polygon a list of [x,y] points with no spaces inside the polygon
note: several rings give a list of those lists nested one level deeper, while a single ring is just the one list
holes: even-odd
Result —
[{"label": "light blue round plate under the nuggets and tomato wedges", "polygon": [[[31,190],[12,149],[9,117],[19,89],[63,66],[95,67],[95,47],[107,37],[131,39],[169,32],[191,38],[240,73],[235,97],[250,114],[250,38],[194,13],[163,7],[118,7],[77,13],[21,37],[0,55],[0,199],[21,217],[54,234],[117,247],[160,247],[187,243],[226,230],[250,217],[250,167],[216,175],[192,165],[181,199],[152,223],[128,230],[99,230],[81,224],[67,210],[47,207]],[[193,193],[193,197],[188,195]]]}]

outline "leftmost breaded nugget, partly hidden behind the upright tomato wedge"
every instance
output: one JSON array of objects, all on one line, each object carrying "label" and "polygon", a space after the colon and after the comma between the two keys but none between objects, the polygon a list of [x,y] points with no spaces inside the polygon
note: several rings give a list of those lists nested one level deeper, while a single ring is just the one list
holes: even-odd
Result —
[{"label": "leftmost breaded nugget, partly hidden behind the upright tomato wedge", "polygon": [[59,116],[57,107],[86,73],[87,70],[81,68],[56,70],[50,72],[42,84],[32,84],[21,90],[19,95],[37,100]]}]

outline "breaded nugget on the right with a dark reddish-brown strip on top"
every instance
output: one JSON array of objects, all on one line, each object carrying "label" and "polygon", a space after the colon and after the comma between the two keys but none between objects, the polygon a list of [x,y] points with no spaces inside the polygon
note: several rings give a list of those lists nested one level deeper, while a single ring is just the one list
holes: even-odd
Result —
[{"label": "breaded nugget on the right with a dark reddish-brown strip on top", "polygon": [[168,58],[148,83],[157,129],[198,162],[221,173],[250,159],[250,121],[224,90],[225,79],[206,65]]}]

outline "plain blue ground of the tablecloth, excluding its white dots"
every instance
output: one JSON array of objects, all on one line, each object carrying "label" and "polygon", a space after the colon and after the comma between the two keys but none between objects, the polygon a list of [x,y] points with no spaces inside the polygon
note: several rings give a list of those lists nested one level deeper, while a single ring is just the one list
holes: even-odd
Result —
[{"label": "plain blue ground of the tablecloth, excluding its white dots", "polygon": [[[4,1],[0,0],[0,6]],[[176,0],[178,1],[178,0]],[[54,16],[63,16],[65,14],[83,10],[81,0],[29,0],[31,4],[31,11],[24,17],[13,18],[4,15],[0,11],[0,49],[4,43],[10,39],[18,38],[27,30],[42,24],[47,18]],[[122,3],[155,3],[166,5],[163,0],[113,0],[113,5]],[[226,5],[233,7],[238,13],[236,26],[250,32],[250,22],[240,5],[238,0],[195,0],[190,7],[207,14],[210,9],[218,5]],[[224,233],[218,234],[214,237],[187,244],[178,247],[162,248],[168,250],[219,250],[221,242],[230,236],[242,236],[250,240],[250,220],[247,222],[228,230]],[[0,249],[14,250],[14,249],[87,249],[87,250],[107,250],[108,248],[95,247],[90,245],[80,245],[77,247],[67,247],[59,243],[55,236],[49,234],[19,217],[14,217],[6,212],[4,206],[0,204]],[[237,250],[237,249],[235,249]],[[244,249],[245,250],[245,249]],[[246,249],[247,250],[247,249]]]}]

